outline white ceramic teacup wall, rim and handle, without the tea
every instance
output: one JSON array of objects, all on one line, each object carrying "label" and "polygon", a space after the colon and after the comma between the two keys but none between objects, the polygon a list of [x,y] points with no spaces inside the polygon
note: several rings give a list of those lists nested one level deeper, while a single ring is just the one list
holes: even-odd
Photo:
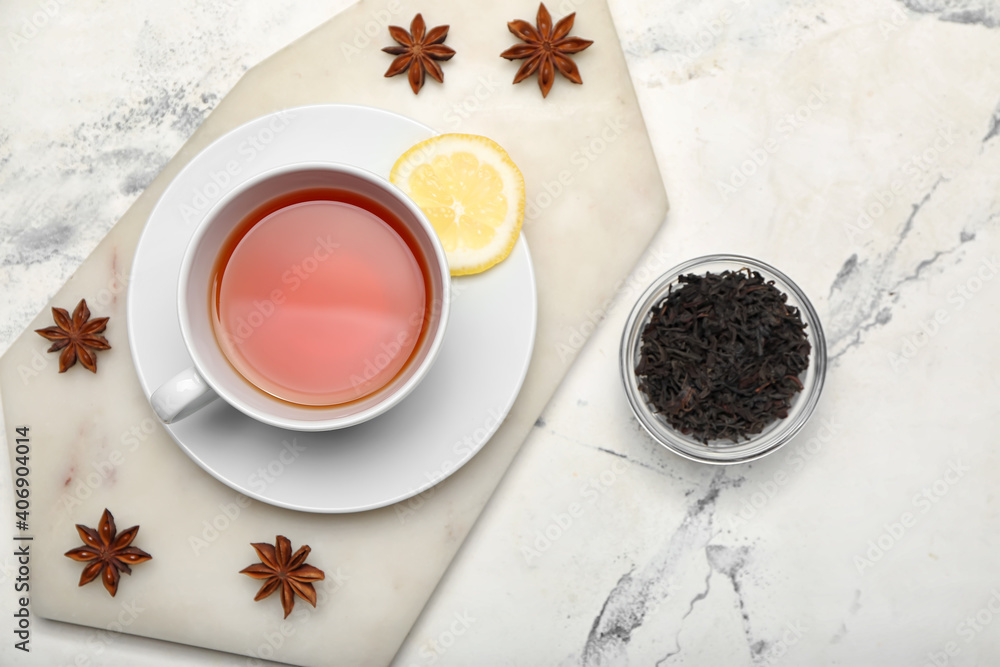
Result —
[{"label": "white ceramic teacup wall, rim and handle, without the tea", "polygon": [[[424,333],[392,380],[349,403],[308,406],[275,398],[244,378],[223,353],[212,325],[213,267],[234,228],[266,202],[299,190],[337,188],[368,197],[389,209],[411,233],[428,267],[431,303]],[[290,164],[260,174],[224,196],[199,224],[181,264],[177,292],[184,344],[194,361],[150,397],[165,423],[183,419],[221,397],[258,421],[298,431],[325,431],[359,424],[399,403],[427,375],[438,356],[449,315],[450,274],[444,249],[423,211],[401,190],[369,171],[345,164]]]}]

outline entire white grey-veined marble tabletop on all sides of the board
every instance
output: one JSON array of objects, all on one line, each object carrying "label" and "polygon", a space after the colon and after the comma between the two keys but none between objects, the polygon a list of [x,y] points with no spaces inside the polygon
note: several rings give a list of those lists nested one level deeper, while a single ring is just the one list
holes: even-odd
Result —
[{"label": "entire white grey-veined marble tabletop on all sides of the board", "polygon": [[[15,52],[9,33],[46,3],[4,3],[4,348],[243,69],[343,4],[63,2]],[[612,11],[668,225],[397,664],[1000,661],[1000,2],[618,0]],[[94,54],[86,75],[69,67],[81,44]],[[642,434],[616,368],[639,292],[713,251],[791,275],[833,358],[806,431],[727,469]],[[0,516],[12,516],[9,479],[0,470]],[[14,561],[0,565],[10,618]],[[244,663],[39,619],[33,629],[35,652],[25,660],[8,637],[0,662]]]}]

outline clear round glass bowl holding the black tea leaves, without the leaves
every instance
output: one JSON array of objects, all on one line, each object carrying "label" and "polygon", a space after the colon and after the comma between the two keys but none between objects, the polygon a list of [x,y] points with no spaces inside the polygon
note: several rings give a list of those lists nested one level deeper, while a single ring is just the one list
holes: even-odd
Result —
[{"label": "clear round glass bowl holding the black tea leaves, without the leaves", "polygon": [[[646,395],[639,390],[635,367],[639,362],[639,351],[642,346],[642,330],[649,323],[652,310],[666,297],[671,285],[677,283],[682,275],[706,273],[721,273],[725,270],[739,271],[750,269],[757,271],[765,281],[774,281],[774,286],[788,297],[788,305],[799,309],[802,321],[806,324],[806,336],[811,346],[809,352],[809,367],[802,381],[802,391],[792,398],[788,416],[771,422],[760,433],[749,436],[749,440],[734,443],[730,440],[710,440],[708,444],[685,435],[674,429],[659,414],[653,412]],[[625,383],[625,393],[629,404],[643,428],[661,445],[692,461],[714,464],[745,463],[759,459],[791,440],[813,413],[819,395],[823,390],[823,380],[826,375],[826,338],[819,316],[806,295],[792,280],[772,266],[750,257],[739,255],[707,255],[689,260],[674,267],[660,276],[639,297],[632,309],[621,345],[621,374]]]}]

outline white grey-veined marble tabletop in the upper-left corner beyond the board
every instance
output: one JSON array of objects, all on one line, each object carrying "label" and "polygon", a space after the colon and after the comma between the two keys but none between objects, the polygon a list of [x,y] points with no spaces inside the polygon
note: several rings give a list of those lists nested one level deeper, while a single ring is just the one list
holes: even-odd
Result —
[{"label": "white grey-veined marble tabletop in the upper-left corner beyond the board", "polygon": [[348,0],[0,7],[0,353],[252,65]]}]

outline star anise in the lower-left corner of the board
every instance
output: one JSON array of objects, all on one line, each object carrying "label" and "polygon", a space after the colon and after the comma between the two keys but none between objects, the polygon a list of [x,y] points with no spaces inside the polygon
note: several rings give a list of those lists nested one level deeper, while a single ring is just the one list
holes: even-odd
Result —
[{"label": "star anise in the lower-left corner of the board", "polygon": [[116,532],[115,518],[107,509],[101,515],[97,530],[81,524],[76,524],[76,530],[85,546],[67,551],[66,556],[76,561],[90,562],[80,575],[80,586],[89,584],[101,575],[104,587],[114,597],[118,592],[120,573],[132,574],[130,564],[144,563],[152,558],[142,549],[129,546],[139,533],[139,526],[132,526],[121,533]]}]

